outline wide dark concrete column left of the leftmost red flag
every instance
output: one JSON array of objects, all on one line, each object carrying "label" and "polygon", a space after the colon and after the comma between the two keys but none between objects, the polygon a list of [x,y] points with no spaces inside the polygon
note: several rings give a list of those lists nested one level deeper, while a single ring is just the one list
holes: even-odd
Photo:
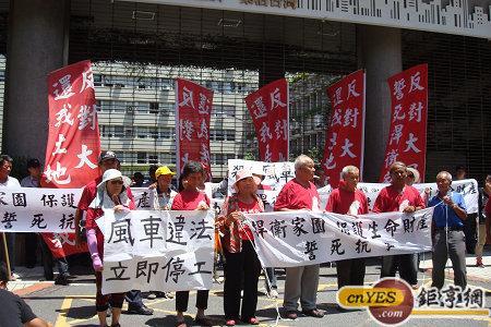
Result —
[{"label": "wide dark concrete column left of the leftmost red flag", "polygon": [[2,152],[45,159],[47,75],[68,62],[70,2],[11,0]]}]

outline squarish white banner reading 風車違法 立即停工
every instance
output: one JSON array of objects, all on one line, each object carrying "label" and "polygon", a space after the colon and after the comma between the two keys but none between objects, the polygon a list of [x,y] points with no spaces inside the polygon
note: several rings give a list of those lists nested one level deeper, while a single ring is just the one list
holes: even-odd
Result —
[{"label": "squarish white banner reading \u98a8\u8eca\u9055\u6cd5 \u7acb\u5373\u505c\u5de5", "polygon": [[97,219],[104,233],[103,294],[208,290],[215,213],[134,210]]}]

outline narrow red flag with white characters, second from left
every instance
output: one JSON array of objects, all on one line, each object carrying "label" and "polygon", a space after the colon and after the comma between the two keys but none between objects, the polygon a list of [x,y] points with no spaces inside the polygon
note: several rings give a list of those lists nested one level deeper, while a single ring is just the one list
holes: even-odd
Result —
[{"label": "narrow red flag with white characters, second from left", "polygon": [[209,152],[209,120],[213,90],[183,78],[176,80],[177,168],[188,161],[205,165],[212,178]]}]

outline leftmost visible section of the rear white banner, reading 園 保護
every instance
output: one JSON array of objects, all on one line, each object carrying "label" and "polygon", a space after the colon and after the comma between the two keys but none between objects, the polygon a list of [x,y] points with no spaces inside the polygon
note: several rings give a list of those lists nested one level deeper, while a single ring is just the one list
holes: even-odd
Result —
[{"label": "leftmost visible section of the rear white banner, reading \u5712 \u4fdd\u8b77", "polygon": [[2,189],[0,231],[73,232],[81,194],[77,189]]}]

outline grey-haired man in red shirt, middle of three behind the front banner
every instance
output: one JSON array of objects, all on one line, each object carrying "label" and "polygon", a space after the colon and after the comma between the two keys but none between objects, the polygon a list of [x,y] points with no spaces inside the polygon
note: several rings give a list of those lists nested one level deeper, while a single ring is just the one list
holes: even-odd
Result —
[{"label": "grey-haired man in red shirt, middle of three behind the front banner", "polygon": [[[339,187],[331,192],[325,210],[328,213],[350,215],[368,214],[368,201],[363,192],[357,189],[360,170],[355,166],[346,166],[342,171]],[[336,262],[337,288],[344,286],[363,286],[364,257]]]}]

